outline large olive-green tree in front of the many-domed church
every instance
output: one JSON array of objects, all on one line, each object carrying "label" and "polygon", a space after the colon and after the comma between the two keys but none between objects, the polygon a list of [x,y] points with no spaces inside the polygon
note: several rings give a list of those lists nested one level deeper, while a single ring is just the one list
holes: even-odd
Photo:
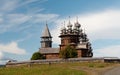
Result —
[{"label": "large olive-green tree in front of the many-domed church", "polygon": [[60,51],[61,58],[75,58],[77,57],[77,50],[72,48],[70,45],[67,45],[64,50]]}]

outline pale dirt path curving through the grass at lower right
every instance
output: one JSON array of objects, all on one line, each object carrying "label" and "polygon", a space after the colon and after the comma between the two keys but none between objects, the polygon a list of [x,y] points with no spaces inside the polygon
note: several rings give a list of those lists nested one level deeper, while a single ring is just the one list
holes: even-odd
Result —
[{"label": "pale dirt path curving through the grass at lower right", "polygon": [[71,69],[83,70],[88,75],[120,75],[120,64],[106,68],[70,67]]}]

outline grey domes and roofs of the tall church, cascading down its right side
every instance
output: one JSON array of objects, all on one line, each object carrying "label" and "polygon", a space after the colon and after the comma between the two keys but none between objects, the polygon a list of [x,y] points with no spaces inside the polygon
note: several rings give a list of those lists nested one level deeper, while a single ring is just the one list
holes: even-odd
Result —
[{"label": "grey domes and roofs of the tall church, cascading down its right side", "polygon": [[83,31],[83,29],[81,28],[81,24],[78,21],[76,21],[73,25],[69,20],[67,27],[65,27],[64,25],[64,27],[61,29],[61,36],[67,35],[77,36],[79,41],[76,44],[76,48],[81,48],[85,45],[88,50],[87,56],[91,57],[93,55],[91,43],[89,42],[87,34],[85,33],[85,31]]}]

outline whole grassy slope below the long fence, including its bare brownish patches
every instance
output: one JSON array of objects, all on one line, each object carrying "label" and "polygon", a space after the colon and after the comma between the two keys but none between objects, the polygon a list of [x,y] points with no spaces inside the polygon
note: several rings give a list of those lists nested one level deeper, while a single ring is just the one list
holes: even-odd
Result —
[{"label": "whole grassy slope below the long fence, including its bare brownish patches", "polygon": [[101,69],[113,63],[60,63],[32,64],[17,67],[0,68],[0,75],[96,75]]}]

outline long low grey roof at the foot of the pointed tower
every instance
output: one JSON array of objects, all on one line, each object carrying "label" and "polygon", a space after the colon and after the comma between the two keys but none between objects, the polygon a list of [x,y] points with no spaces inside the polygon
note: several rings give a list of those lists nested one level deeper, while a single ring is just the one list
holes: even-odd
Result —
[{"label": "long low grey roof at the foot of the pointed tower", "polygon": [[40,48],[39,50],[41,54],[59,53],[59,51],[59,48]]}]

